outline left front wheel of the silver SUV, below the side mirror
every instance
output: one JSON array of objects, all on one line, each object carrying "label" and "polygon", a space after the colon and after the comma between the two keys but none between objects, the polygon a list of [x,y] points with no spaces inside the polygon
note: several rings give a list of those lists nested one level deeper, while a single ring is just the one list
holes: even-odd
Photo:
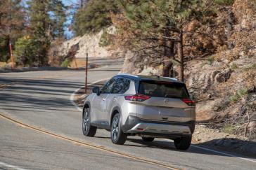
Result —
[{"label": "left front wheel of the silver SUV, below the side mirror", "polygon": [[91,126],[90,108],[85,108],[82,118],[82,132],[84,136],[94,136],[97,127]]}]

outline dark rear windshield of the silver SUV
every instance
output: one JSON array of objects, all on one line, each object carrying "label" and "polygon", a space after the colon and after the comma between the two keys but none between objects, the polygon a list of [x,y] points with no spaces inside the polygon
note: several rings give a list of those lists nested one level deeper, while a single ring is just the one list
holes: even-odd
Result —
[{"label": "dark rear windshield of the silver SUV", "polygon": [[150,97],[189,98],[184,84],[160,81],[141,81],[139,94]]}]

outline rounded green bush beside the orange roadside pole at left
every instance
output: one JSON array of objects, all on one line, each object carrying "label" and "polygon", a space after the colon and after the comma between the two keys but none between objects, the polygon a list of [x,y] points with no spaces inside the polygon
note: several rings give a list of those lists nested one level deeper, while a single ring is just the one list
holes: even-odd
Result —
[{"label": "rounded green bush beside the orange roadside pole at left", "polygon": [[16,64],[31,66],[37,62],[39,48],[29,36],[23,36],[15,42],[14,57]]}]

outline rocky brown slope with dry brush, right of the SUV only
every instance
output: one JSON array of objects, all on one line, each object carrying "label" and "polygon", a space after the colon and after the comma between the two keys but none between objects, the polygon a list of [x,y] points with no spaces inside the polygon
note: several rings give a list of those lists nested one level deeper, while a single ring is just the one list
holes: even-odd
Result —
[{"label": "rocky brown slope with dry brush, right of the SUV only", "polygon": [[198,121],[256,139],[256,8],[253,1],[233,4],[233,31],[211,60],[187,64],[186,83],[198,101]]}]

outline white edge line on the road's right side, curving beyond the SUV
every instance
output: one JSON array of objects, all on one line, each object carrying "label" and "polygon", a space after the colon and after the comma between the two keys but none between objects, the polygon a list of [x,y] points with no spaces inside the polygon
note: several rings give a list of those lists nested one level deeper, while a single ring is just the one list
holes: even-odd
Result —
[{"label": "white edge line on the road's right side, curving beyond the SUV", "polygon": [[[101,79],[101,80],[97,80],[97,81],[95,81],[95,82],[93,82],[93,83],[90,83],[89,85],[93,85],[93,84],[96,84],[96,83],[98,83],[98,82],[101,82],[101,81],[103,81],[103,80],[108,80],[108,79],[109,79],[109,78],[104,78],[104,79]],[[82,86],[82,87],[84,87],[84,86]],[[77,104],[75,104],[74,98],[75,98],[75,94],[76,94],[80,89],[82,89],[82,87],[79,87],[79,88],[78,88],[77,90],[75,90],[75,92],[73,92],[73,93],[71,94],[71,96],[70,96],[70,102],[71,102],[72,105],[74,105],[75,108],[77,108],[77,110],[80,111],[80,112],[82,112],[82,108],[80,108],[79,106],[77,106]],[[169,141],[168,139],[164,139],[164,140],[165,140],[165,141]],[[202,149],[202,150],[207,150],[207,151],[210,151],[210,152],[212,152],[212,153],[219,153],[219,154],[226,155],[226,156],[229,156],[229,157],[236,157],[236,158],[241,159],[241,160],[246,160],[246,161],[250,161],[250,162],[256,163],[256,160],[251,160],[251,159],[245,158],[245,157],[238,157],[238,156],[236,156],[236,155],[231,155],[231,154],[229,154],[229,153],[222,153],[222,152],[220,152],[220,151],[212,150],[212,149],[208,149],[208,148],[204,148],[204,147],[202,147],[202,146],[194,146],[194,145],[191,145],[191,147],[199,148],[199,149]]]}]

